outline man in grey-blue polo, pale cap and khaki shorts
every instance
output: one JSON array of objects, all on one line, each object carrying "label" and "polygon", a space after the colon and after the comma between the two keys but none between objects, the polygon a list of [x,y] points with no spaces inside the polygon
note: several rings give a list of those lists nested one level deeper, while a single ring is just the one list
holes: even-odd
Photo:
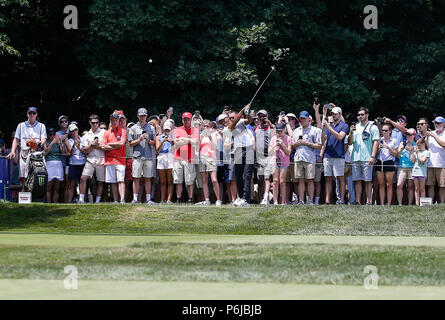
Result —
[{"label": "man in grey-blue polo, pale cap and khaki shorts", "polygon": [[147,109],[138,110],[138,122],[130,129],[128,141],[133,147],[133,203],[139,202],[140,181],[143,179],[146,192],[146,204],[155,204],[151,201],[151,181],[155,173],[156,164],[156,132],[147,122]]}]

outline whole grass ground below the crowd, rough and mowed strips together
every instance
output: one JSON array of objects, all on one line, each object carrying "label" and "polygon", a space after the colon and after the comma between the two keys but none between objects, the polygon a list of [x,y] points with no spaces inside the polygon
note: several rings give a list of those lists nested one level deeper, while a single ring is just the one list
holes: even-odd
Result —
[{"label": "whole grass ground below the crowd, rough and mowed strips together", "polygon": [[0,204],[0,298],[444,299],[444,209]]}]

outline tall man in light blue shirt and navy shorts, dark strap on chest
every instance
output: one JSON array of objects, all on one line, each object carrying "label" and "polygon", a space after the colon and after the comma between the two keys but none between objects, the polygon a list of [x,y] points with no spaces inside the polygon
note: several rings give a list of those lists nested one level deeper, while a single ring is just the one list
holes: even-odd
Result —
[{"label": "tall man in light blue shirt and navy shorts, dark strap on chest", "polygon": [[355,184],[356,204],[361,204],[362,183],[365,183],[366,204],[372,204],[372,170],[376,162],[380,132],[369,121],[369,110],[361,107],[357,112],[358,123],[349,130],[348,145],[352,145],[352,180]]}]

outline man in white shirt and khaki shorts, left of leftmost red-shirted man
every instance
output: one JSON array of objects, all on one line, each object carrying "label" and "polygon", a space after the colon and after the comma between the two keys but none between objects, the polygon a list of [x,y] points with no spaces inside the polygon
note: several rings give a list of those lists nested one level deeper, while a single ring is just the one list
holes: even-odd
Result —
[{"label": "man in white shirt and khaki shorts, left of leftmost red-shirted man", "polygon": [[104,138],[105,130],[99,128],[99,116],[92,114],[89,117],[91,129],[82,137],[83,153],[86,155],[86,163],[80,177],[79,203],[85,202],[87,181],[96,173],[97,195],[96,203],[102,199],[102,191],[105,182],[105,153],[100,146]]}]

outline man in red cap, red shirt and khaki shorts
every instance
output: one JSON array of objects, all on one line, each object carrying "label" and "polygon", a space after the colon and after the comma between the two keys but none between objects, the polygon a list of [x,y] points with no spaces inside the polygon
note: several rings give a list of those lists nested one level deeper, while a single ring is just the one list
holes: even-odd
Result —
[{"label": "man in red cap, red shirt and khaki shorts", "polygon": [[182,195],[182,183],[185,181],[188,203],[193,203],[193,183],[196,178],[196,149],[199,146],[199,130],[192,127],[192,114],[185,112],[182,115],[184,126],[176,128],[174,138],[173,183],[176,184],[177,202]]}]

